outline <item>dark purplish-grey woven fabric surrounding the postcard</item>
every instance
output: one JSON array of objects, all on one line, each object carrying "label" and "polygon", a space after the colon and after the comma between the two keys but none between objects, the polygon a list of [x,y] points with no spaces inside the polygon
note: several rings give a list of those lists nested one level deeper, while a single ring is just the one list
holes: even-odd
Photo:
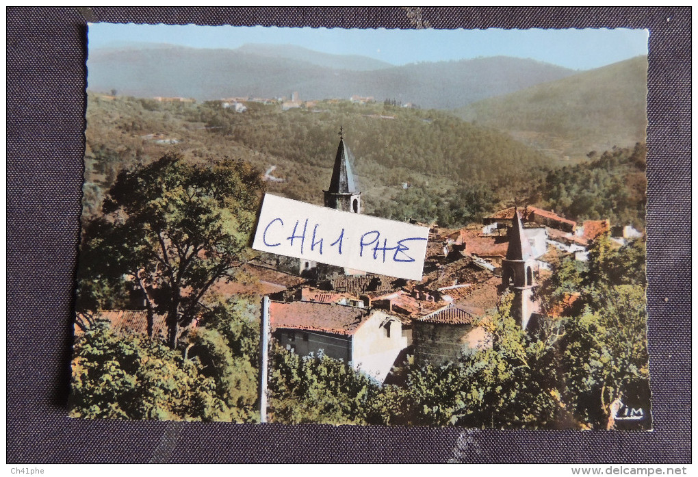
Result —
[{"label": "dark purplish-grey woven fabric surrounding the postcard", "polygon": [[[690,8],[8,8],[8,462],[690,462]],[[232,425],[67,417],[87,21],[651,31],[653,432]]]}]

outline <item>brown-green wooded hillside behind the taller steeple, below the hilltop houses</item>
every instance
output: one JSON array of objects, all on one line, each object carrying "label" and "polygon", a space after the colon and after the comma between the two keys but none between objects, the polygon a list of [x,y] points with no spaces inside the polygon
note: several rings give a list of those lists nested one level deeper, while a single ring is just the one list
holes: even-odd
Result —
[{"label": "brown-green wooded hillside behind the taller steeple, below the hilltop houses", "polygon": [[[395,217],[456,225],[494,210],[500,200],[528,196],[551,165],[547,156],[505,134],[436,110],[348,101],[320,102],[312,110],[260,103],[248,108],[235,113],[217,102],[163,104],[89,94],[86,213],[98,213],[103,191],[120,168],[153,161],[170,148],[191,159],[232,156],[262,171],[276,166],[270,174],[283,182],[270,180],[269,191],[322,204],[340,126],[356,158],[368,213],[390,206]],[[403,184],[409,184],[410,197],[429,198],[424,207],[407,209],[399,200]],[[472,197],[479,205],[463,210]],[[394,198],[405,210],[394,210]]]}]

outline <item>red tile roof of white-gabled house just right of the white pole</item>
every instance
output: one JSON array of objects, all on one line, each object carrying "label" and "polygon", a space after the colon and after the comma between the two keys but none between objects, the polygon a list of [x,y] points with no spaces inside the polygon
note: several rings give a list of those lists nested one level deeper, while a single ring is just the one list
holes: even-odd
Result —
[{"label": "red tile roof of white-gabled house just right of the white pole", "polygon": [[277,328],[288,328],[351,336],[364,323],[368,315],[367,309],[334,303],[269,303],[269,323],[272,331]]}]

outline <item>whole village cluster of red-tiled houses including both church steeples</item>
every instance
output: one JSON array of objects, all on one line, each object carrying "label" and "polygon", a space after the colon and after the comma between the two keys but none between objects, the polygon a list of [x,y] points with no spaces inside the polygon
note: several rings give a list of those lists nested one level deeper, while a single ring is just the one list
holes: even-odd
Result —
[{"label": "whole village cluster of red-tiled houses including both church steeples", "polygon": [[[325,207],[361,213],[350,163],[341,139]],[[487,312],[504,293],[514,295],[518,323],[535,326],[542,313],[535,289],[550,273],[551,258],[562,252],[586,260],[588,244],[600,233],[610,232],[619,244],[641,235],[632,226],[576,223],[530,206],[508,207],[483,222],[459,230],[429,224],[421,281],[260,256],[248,267],[269,287],[263,313],[274,339],[300,355],[321,351],[351,362],[383,382],[408,354],[438,365],[490,346]]]}]

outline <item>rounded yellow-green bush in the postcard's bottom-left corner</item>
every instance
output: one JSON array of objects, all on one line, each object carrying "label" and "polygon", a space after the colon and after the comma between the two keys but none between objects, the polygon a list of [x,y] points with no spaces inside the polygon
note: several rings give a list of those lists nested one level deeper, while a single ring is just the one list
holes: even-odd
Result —
[{"label": "rounded yellow-green bush in the postcard's bottom-left corner", "polygon": [[70,415],[77,418],[231,420],[214,379],[162,343],[96,323],[75,342]]}]

